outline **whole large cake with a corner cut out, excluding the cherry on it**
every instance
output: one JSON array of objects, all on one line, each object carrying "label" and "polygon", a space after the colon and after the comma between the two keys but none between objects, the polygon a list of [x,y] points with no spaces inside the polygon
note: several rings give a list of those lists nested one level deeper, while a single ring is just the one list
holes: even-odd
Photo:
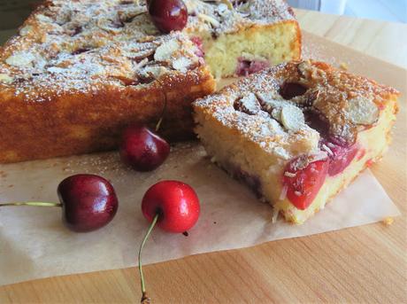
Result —
[{"label": "whole large cake with a corner cut out, excluding the cherry on it", "polygon": [[39,6],[0,49],[0,163],[111,150],[128,124],[155,125],[163,113],[162,135],[188,138],[192,101],[215,90],[211,74],[300,56],[282,0],[186,4],[187,26],[170,35],[144,1]]}]

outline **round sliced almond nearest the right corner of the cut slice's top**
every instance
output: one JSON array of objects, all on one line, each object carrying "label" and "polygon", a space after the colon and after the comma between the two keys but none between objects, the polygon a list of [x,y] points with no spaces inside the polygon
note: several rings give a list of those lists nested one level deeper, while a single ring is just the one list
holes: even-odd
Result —
[{"label": "round sliced almond nearest the right corner of the cut slice's top", "polygon": [[345,115],[357,125],[371,125],[379,117],[379,107],[371,98],[356,97],[348,101]]}]

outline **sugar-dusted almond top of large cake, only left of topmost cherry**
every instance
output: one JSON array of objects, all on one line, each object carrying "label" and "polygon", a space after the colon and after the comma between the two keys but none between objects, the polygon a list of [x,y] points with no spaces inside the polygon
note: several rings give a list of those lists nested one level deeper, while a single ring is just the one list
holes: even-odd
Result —
[{"label": "sugar-dusted almond top of large cake, only left of topmost cherry", "polygon": [[145,87],[163,74],[195,70],[202,64],[197,52],[186,35],[160,35],[142,2],[53,0],[1,51],[0,86],[35,102],[106,86]]}]

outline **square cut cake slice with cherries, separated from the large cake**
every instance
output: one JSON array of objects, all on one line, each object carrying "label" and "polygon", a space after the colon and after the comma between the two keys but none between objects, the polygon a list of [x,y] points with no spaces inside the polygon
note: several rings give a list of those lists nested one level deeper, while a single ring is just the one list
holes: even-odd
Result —
[{"label": "square cut cake slice with cherries, separated from the large cake", "polygon": [[386,152],[398,95],[325,63],[292,61],[196,101],[196,133],[276,215],[303,223]]}]

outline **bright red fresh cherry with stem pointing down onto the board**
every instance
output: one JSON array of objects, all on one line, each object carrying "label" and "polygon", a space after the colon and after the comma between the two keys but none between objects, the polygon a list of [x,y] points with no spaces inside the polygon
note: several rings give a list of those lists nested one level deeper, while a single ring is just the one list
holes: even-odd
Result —
[{"label": "bright red fresh cherry with stem pointing down onto the board", "polygon": [[142,303],[149,303],[142,275],[142,248],[157,224],[162,230],[185,233],[190,230],[200,214],[199,199],[194,189],[178,181],[162,181],[150,187],[142,198],[142,214],[150,228],[142,239],[139,250],[139,273],[142,283]]}]

